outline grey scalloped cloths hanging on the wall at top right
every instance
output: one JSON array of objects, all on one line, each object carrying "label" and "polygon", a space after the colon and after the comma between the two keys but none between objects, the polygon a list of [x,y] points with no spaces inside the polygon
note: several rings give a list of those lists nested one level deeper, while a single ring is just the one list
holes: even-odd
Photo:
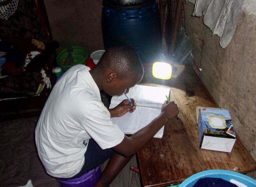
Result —
[{"label": "grey scalloped cloths hanging on the wall at top right", "polygon": [[[193,0],[187,0],[193,3]],[[203,16],[204,24],[212,31],[212,35],[220,37],[220,46],[227,47],[235,30],[237,17],[243,0],[195,0],[193,16]]]}]

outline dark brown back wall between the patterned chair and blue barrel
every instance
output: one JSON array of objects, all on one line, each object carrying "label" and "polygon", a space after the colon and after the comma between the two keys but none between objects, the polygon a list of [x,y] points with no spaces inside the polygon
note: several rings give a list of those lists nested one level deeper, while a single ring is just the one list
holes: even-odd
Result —
[{"label": "dark brown back wall between the patterned chair and blue barrel", "polygon": [[102,0],[44,1],[53,39],[68,40],[76,36],[74,45],[90,53],[104,49],[101,32]]}]

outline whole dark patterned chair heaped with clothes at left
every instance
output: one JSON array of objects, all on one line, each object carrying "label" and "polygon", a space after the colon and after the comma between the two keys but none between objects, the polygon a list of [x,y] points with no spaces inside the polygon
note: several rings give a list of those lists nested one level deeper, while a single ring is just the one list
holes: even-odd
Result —
[{"label": "whole dark patterned chair heaped with clothes at left", "polygon": [[56,80],[52,70],[59,46],[44,2],[19,0],[0,25],[0,121],[38,116]]}]

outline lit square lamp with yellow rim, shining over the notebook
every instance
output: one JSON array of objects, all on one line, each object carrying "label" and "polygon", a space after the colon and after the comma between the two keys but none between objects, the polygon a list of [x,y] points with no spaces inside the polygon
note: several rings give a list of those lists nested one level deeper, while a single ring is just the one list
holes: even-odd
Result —
[{"label": "lit square lamp with yellow rim, shining over the notebook", "polygon": [[155,62],[152,74],[157,79],[170,79],[172,76],[172,66],[165,62]]}]

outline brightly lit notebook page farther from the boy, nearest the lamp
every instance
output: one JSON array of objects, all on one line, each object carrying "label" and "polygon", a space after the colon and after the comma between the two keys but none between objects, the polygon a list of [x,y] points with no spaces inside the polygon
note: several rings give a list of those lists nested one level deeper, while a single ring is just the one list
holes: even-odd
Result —
[{"label": "brightly lit notebook page farther from the boy, nearest the lamp", "polygon": [[[162,104],[166,100],[165,95],[169,96],[170,89],[162,87],[151,87],[143,85],[135,85],[130,88],[127,96],[133,98],[137,106],[162,108]],[[126,99],[125,95],[113,96],[111,103],[119,104]]]}]

